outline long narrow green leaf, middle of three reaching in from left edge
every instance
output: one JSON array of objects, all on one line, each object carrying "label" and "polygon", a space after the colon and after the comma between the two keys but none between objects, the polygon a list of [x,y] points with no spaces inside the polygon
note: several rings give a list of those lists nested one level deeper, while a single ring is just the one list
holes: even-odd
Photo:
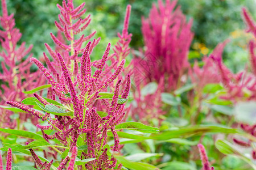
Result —
[{"label": "long narrow green leaf, middle of three reaching in from left edge", "polygon": [[3,128],[0,128],[0,131],[2,131],[4,133],[9,133],[9,134],[17,135],[20,137],[24,137],[24,138],[44,140],[44,138],[42,136],[40,136],[39,134],[32,133],[30,131],[15,130],[15,129],[3,129]]}]

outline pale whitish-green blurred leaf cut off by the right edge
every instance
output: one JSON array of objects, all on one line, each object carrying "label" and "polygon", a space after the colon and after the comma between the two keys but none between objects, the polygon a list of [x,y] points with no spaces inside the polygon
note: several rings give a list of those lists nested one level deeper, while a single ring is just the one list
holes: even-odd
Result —
[{"label": "pale whitish-green blurred leaf cut off by the right edge", "polygon": [[256,124],[256,102],[241,102],[234,107],[234,116],[239,122]]}]

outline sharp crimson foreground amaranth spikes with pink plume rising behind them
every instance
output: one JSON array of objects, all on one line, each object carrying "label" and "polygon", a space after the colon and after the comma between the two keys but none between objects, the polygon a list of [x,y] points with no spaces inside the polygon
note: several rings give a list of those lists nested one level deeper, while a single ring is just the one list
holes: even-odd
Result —
[{"label": "sharp crimson foreground amaranth spikes with pink plume rising behind them", "polygon": [[[56,27],[62,32],[70,42],[66,45],[63,40],[58,39],[51,33],[52,40],[58,46],[55,52],[46,44],[46,48],[53,58],[51,61],[46,54],[44,57],[48,69],[36,58],[31,58],[30,61],[38,66],[47,82],[51,84],[48,90],[47,97],[52,100],[60,101],[59,105],[51,103],[41,95],[34,94],[35,98],[39,101],[40,108],[44,108],[45,113],[36,111],[27,105],[18,103],[16,101],[7,101],[7,104],[12,105],[31,113],[32,115],[42,118],[47,121],[48,125],[37,125],[43,132],[46,141],[57,139],[65,148],[71,152],[72,156],[66,156],[60,163],[58,169],[64,169],[65,165],[69,162],[68,169],[77,167],[75,160],[79,156],[82,159],[95,158],[95,160],[85,164],[86,169],[120,169],[121,164],[117,164],[117,160],[113,156],[109,156],[110,149],[114,152],[119,151],[119,140],[115,125],[118,125],[125,116],[125,102],[119,102],[119,94],[121,93],[122,80],[116,80],[121,77],[123,67],[125,65],[125,58],[129,54],[130,37],[127,33],[129,23],[130,9],[127,7],[125,28],[122,35],[119,35],[120,41],[115,46],[115,54],[112,55],[120,60],[113,61],[117,67],[104,67],[106,61],[109,59],[110,43],[99,61],[91,62],[90,54],[94,46],[96,46],[100,39],[89,41],[86,43],[85,48],[82,48],[83,42],[90,39],[95,32],[89,36],[82,35],[79,39],[75,40],[76,34],[83,31],[90,23],[90,16],[82,19],[81,16],[85,13],[85,3],[82,3],[77,8],[73,7],[73,2],[69,0],[67,3],[63,1],[63,5],[57,5],[60,9],[59,15],[60,22],[55,22]],[[75,23],[73,23],[75,21]],[[61,36],[60,36],[61,37]],[[79,57],[81,54],[81,57]],[[110,58],[113,60],[113,58]],[[95,73],[92,71],[92,66],[96,67]],[[109,69],[110,68],[110,69]],[[112,73],[111,69],[115,69]],[[130,75],[127,74],[127,81],[124,84],[121,93],[121,99],[127,100],[131,86]],[[109,97],[104,97],[104,92],[108,87],[114,87],[113,94],[111,95],[111,102]],[[103,105],[98,107],[98,101],[102,101]],[[62,109],[62,114],[56,114],[46,110],[47,108]],[[48,112],[47,112],[48,111]],[[104,114],[102,111],[105,111]],[[54,114],[53,118],[51,114]],[[46,134],[44,130],[53,129],[53,134]],[[109,132],[111,131],[114,138],[114,146],[108,148],[107,141]],[[88,146],[86,152],[78,152],[79,147],[77,141],[82,141],[84,145]],[[57,152],[62,152],[60,149]],[[42,163],[35,152],[31,150],[31,155],[36,164],[41,169],[49,168],[53,162]]]}]

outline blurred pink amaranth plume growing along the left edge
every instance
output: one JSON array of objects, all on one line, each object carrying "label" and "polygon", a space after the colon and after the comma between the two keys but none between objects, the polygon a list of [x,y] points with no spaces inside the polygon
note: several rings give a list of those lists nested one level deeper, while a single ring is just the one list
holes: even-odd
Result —
[{"label": "blurred pink amaranth plume growing along the left edge", "polygon": [[[38,87],[45,81],[38,72],[31,73],[30,50],[32,45],[26,48],[26,43],[22,42],[19,46],[18,41],[22,34],[15,28],[14,14],[8,15],[6,0],[2,0],[2,16],[0,22],[2,30],[0,31],[2,51],[0,56],[4,59],[1,62],[3,72],[0,73],[0,79],[3,83],[0,85],[3,95],[0,98],[0,104],[5,104],[8,100],[22,100],[26,97],[23,91]],[[26,80],[26,81],[25,81]],[[11,120],[11,111],[1,109],[0,127],[15,128],[16,122]],[[21,117],[20,117],[21,118]],[[22,121],[28,117],[24,117]],[[36,122],[36,120],[35,120]]]}]

